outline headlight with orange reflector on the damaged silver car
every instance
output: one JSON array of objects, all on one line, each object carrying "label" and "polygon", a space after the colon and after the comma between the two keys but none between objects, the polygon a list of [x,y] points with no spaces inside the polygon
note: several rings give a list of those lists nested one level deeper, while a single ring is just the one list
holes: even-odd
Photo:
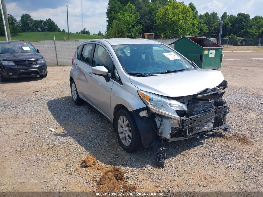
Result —
[{"label": "headlight with orange reflector on the damaged silver car", "polygon": [[179,119],[176,110],[187,110],[187,107],[184,104],[170,98],[140,90],[138,91],[138,94],[151,111],[160,115],[168,116],[172,119]]}]

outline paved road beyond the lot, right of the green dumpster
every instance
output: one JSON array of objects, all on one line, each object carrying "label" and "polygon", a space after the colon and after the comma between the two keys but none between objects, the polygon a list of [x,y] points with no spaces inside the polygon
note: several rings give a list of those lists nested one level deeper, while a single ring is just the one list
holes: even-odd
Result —
[{"label": "paved road beyond the lot, right of the green dumpster", "polygon": [[261,59],[263,60],[263,51],[223,51],[223,59]]}]

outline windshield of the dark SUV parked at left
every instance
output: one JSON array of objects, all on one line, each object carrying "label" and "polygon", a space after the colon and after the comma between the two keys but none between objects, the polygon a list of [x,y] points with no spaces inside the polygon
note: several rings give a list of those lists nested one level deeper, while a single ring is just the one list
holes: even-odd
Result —
[{"label": "windshield of the dark SUV parked at left", "polygon": [[35,48],[25,42],[12,42],[0,44],[0,53],[32,53],[36,52]]}]

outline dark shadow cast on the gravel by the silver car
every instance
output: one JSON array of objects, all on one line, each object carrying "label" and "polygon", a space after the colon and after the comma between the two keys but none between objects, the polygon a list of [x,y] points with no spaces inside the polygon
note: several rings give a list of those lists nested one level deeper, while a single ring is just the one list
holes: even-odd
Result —
[{"label": "dark shadow cast on the gravel by the silver car", "polygon": [[[154,165],[155,148],[143,148],[135,153],[127,153],[120,150],[118,139],[113,131],[112,124],[95,108],[83,102],[82,106],[76,106],[71,96],[50,100],[47,102],[48,108],[55,120],[64,129],[65,133],[55,133],[58,137],[71,136],[76,143],[85,148],[87,152],[95,157],[96,160],[105,164],[124,166],[124,167],[145,167]],[[195,148],[203,144],[207,138],[220,137],[222,134],[212,134],[200,138],[190,138],[187,140],[171,142],[164,147],[167,159],[176,157],[181,152]],[[187,155],[182,154],[183,157]],[[83,158],[87,155],[83,155]]]}]

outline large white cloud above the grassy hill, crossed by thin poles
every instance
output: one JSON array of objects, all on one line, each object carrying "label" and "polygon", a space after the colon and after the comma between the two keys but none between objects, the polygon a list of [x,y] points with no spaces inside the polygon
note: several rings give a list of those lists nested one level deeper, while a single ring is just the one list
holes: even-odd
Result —
[{"label": "large white cloud above the grassy hill, crossed by thin poles", "polygon": [[[96,2],[83,0],[83,27],[87,28],[91,33],[104,32],[106,26],[106,7],[107,0],[98,0]],[[6,3],[8,13],[11,13],[20,20],[21,15],[24,13],[30,14],[35,20],[45,20],[51,18],[60,29],[67,31],[67,11],[66,5],[59,6],[57,8],[44,8],[35,11],[22,10],[17,6],[16,2]],[[68,24],[69,31],[75,33],[82,30],[82,18],[81,18],[81,4],[71,0],[68,3]]]}]

